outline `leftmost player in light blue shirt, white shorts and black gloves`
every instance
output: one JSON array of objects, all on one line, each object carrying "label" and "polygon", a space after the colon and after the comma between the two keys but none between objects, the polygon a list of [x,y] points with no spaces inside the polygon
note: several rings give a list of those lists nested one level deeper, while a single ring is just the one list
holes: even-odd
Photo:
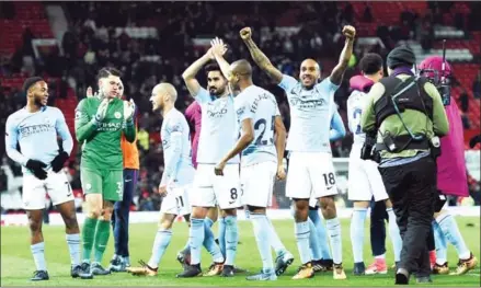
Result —
[{"label": "leftmost player in light blue shirt, white shorts and black gloves", "polygon": [[[26,106],[7,118],[5,148],[7,154],[22,165],[22,198],[28,217],[31,251],[36,267],[31,280],[49,279],[42,232],[46,194],[64,219],[71,276],[77,278],[82,273],[80,231],[72,189],[66,174],[61,172],[73,148],[72,137],[64,114],[56,107],[47,106],[48,85],[42,78],[26,79],[23,90],[26,93]],[[57,135],[62,139],[61,148],[58,147]]]}]

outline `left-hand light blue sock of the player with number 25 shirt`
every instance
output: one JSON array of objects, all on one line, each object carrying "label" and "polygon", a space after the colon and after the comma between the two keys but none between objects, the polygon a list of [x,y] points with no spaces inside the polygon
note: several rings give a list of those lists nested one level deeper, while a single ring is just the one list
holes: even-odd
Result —
[{"label": "left-hand light blue sock of the player with number 25 shirt", "polygon": [[262,268],[264,272],[272,272],[274,263],[272,261],[271,243],[268,241],[268,219],[263,214],[250,214],[250,219],[254,228],[254,237],[257,242],[259,253],[261,254]]}]

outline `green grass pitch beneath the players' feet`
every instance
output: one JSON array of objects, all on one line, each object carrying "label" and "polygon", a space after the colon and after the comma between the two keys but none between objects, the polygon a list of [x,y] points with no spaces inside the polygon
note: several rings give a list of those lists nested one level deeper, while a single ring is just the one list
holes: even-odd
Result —
[{"label": "green grass pitch beneath the players' feet", "polygon": [[[480,219],[477,217],[457,217],[462,235],[480,260]],[[469,226],[468,226],[469,224]],[[291,251],[296,260],[287,272],[278,278],[277,281],[257,283],[247,281],[244,275],[239,274],[232,278],[221,277],[196,277],[191,279],[177,279],[175,274],[181,272],[180,264],[175,261],[176,252],[183,247],[187,240],[188,229],[186,223],[177,222],[174,224],[172,242],[169,245],[164,257],[159,266],[158,277],[136,277],[127,273],[113,274],[108,276],[98,276],[91,280],[72,279],[70,277],[70,258],[67,243],[65,240],[65,230],[62,227],[44,226],[44,238],[46,243],[46,261],[50,280],[41,283],[31,283],[34,268],[33,258],[30,252],[28,229],[26,227],[2,227],[1,228],[1,286],[392,286],[393,270],[390,269],[388,275],[374,275],[355,277],[352,275],[353,256],[350,239],[350,219],[342,220],[343,233],[343,260],[346,269],[346,280],[333,280],[332,273],[317,274],[312,279],[291,280],[299,265],[296,241],[294,239],[294,226],[290,220],[276,220],[274,226],[283,240],[284,244]],[[261,269],[261,260],[259,256],[255,239],[252,232],[252,226],[248,221],[240,221],[240,241],[238,247],[237,265],[248,268],[249,272],[259,272]],[[153,237],[157,230],[156,223],[131,224],[130,226],[130,258],[133,265],[138,260],[148,261]],[[217,224],[214,227],[217,232]],[[365,240],[365,263],[370,264],[370,247],[368,238],[368,221],[366,222]],[[388,264],[393,264],[391,243],[387,238],[387,258]],[[111,233],[110,244],[105,252],[104,265],[107,265],[113,254],[113,234]],[[205,272],[210,264],[210,255],[204,250],[203,270]],[[456,267],[458,261],[455,249],[448,246],[448,260],[451,269]],[[479,266],[463,276],[433,276],[434,284],[431,286],[476,286],[480,287]],[[415,279],[411,278],[414,284]]]}]

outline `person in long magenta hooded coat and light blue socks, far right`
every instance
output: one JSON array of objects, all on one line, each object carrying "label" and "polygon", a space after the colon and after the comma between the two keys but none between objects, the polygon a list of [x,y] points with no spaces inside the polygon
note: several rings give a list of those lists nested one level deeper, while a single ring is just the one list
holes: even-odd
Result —
[{"label": "person in long magenta hooded coat and light blue socks, far right", "polygon": [[[444,67],[443,67],[444,66]],[[468,197],[468,180],[465,162],[465,141],[461,117],[458,105],[450,94],[453,68],[443,57],[427,57],[420,64],[420,73],[427,77],[436,85],[445,105],[449,122],[449,133],[440,138],[442,153],[437,158],[437,189],[444,200],[437,204],[434,214],[433,229],[436,246],[436,263],[433,274],[448,274],[447,243],[449,241],[458,253],[458,266],[453,275],[463,275],[473,269],[478,260],[466,245],[454,216],[446,209],[446,195]]]}]

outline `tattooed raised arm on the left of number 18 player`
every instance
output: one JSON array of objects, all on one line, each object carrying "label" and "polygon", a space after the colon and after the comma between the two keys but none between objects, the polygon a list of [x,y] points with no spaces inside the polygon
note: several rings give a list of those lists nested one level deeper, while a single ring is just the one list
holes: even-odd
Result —
[{"label": "tattooed raised arm on the left of number 18 player", "polygon": [[265,56],[261,49],[255,45],[252,39],[252,31],[250,27],[242,28],[240,31],[240,36],[242,41],[248,46],[249,51],[251,53],[252,59],[254,59],[255,64],[273,79],[276,84],[280,83],[283,80],[283,73],[272,65],[271,60]]}]

